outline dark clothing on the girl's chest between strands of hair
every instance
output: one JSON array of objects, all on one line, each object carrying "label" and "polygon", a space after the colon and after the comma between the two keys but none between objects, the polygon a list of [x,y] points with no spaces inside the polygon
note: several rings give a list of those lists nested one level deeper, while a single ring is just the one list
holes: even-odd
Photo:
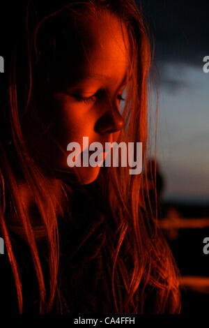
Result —
[{"label": "dark clothing on the girl's chest between strands of hair", "polygon": [[[111,292],[111,258],[107,239],[112,239],[107,217],[101,216],[95,202],[82,195],[75,196],[71,215],[58,218],[60,262],[58,287],[51,313],[115,313]],[[95,200],[95,198],[94,198]],[[102,211],[102,201],[99,208]],[[89,204],[89,202],[91,202]],[[98,204],[97,204],[98,205]],[[77,211],[77,208],[80,210]],[[71,219],[73,218],[73,220]],[[112,225],[114,223],[112,222]],[[23,313],[39,313],[39,292],[36,272],[29,246],[10,231],[13,251],[22,276]],[[46,288],[49,290],[47,244],[38,244]],[[7,253],[1,261],[1,313],[18,313],[17,292]],[[82,283],[81,283],[82,281]],[[121,285],[123,281],[121,280]],[[122,290],[123,292],[123,290]],[[153,312],[153,296],[146,301],[145,312]]]}]

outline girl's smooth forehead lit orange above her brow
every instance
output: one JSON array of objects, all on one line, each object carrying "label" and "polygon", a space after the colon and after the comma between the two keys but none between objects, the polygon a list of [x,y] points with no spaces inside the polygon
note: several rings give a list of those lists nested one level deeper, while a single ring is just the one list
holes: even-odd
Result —
[{"label": "girl's smooth forehead lit orange above her brow", "polygon": [[115,80],[125,75],[129,66],[130,45],[127,29],[113,14],[104,13],[79,24],[80,57],[77,73],[105,74]]}]

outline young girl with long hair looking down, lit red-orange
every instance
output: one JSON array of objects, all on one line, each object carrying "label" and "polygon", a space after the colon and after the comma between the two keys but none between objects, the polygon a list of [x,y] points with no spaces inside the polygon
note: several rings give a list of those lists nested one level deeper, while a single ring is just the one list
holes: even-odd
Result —
[{"label": "young girl with long hair looking down, lit red-orange", "polygon": [[[178,269],[145,205],[150,46],[141,11],[133,0],[42,2],[23,4],[22,17],[13,8],[7,22],[1,309],[178,313]],[[68,144],[83,137],[142,142],[144,173],[69,167]]]}]

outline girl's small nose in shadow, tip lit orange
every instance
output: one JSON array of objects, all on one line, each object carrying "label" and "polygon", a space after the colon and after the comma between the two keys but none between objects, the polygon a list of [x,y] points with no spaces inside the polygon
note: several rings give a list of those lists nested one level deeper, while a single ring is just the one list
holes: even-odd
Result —
[{"label": "girl's small nose in shadow, tip lit orange", "polygon": [[95,124],[95,131],[98,133],[114,133],[123,128],[123,117],[118,110],[109,110],[104,113]]}]

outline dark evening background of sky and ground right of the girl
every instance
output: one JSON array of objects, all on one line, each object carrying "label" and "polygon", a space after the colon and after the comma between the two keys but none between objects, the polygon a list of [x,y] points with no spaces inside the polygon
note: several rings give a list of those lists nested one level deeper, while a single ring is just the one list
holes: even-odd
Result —
[{"label": "dark evening background of sky and ground right of the girl", "polygon": [[[209,1],[142,0],[142,8],[155,40],[153,66],[159,75],[161,220],[170,220],[170,227],[176,218],[201,222],[209,218],[209,74],[203,73],[203,57],[209,54]],[[194,229],[192,223],[163,232],[180,274],[193,277],[196,284],[195,292],[194,285],[182,286],[182,312],[207,313],[208,284],[200,286],[209,277],[209,255],[203,254],[209,228]]]}]

